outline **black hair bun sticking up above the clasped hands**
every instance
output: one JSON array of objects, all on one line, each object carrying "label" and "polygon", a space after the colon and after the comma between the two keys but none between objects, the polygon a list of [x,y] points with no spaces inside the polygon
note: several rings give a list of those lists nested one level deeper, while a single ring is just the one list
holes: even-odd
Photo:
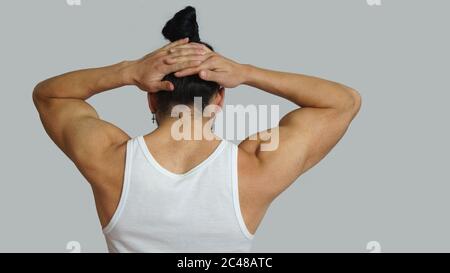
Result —
[{"label": "black hair bun sticking up above the clasped hands", "polygon": [[200,42],[195,8],[187,6],[177,12],[162,30],[162,34],[171,42],[189,37],[189,42]]}]

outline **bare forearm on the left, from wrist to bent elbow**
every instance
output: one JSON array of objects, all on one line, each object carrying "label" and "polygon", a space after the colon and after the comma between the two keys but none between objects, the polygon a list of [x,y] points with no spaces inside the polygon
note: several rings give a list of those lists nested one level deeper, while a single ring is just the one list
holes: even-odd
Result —
[{"label": "bare forearm on the left, from wrist to bent elbow", "polygon": [[33,97],[86,100],[100,92],[132,84],[128,69],[131,63],[83,69],[47,79],[36,86]]}]

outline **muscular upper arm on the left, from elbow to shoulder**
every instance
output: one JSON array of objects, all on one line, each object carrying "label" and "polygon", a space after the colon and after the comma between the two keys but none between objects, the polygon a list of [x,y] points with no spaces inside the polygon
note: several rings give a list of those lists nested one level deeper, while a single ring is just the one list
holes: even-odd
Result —
[{"label": "muscular upper arm on the left, from elbow to shoulder", "polygon": [[47,134],[78,167],[129,138],[118,127],[99,119],[83,100],[46,99],[36,106]]}]

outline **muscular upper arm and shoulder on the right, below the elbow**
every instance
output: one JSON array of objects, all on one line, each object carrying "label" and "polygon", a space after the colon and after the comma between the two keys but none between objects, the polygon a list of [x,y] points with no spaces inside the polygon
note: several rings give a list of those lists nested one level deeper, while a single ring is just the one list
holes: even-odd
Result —
[{"label": "muscular upper arm and shoulder on the right, below the elbow", "polygon": [[[284,116],[279,127],[266,135],[269,140],[245,140],[241,147],[254,154],[258,187],[275,198],[302,173],[324,158],[344,135],[352,117],[335,109],[300,108]],[[259,135],[259,134],[258,134]],[[264,151],[272,142],[275,149]]]}]

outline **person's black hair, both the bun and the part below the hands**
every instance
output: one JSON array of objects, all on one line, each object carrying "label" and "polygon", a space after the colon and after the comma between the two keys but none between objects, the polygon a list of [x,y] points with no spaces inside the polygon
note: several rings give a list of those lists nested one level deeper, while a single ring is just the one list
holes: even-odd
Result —
[{"label": "person's black hair, both the bun and the part below the hands", "polygon": [[[162,34],[171,42],[189,37],[189,42],[202,43],[214,50],[209,44],[200,40],[195,8],[191,6],[177,12],[166,23]],[[175,87],[170,92],[156,93],[158,112],[160,111],[163,115],[170,115],[171,108],[177,104],[192,105],[194,97],[202,97],[204,108],[220,87],[216,82],[202,80],[198,75],[176,77],[174,73],[171,73],[163,80],[172,82]]]}]

